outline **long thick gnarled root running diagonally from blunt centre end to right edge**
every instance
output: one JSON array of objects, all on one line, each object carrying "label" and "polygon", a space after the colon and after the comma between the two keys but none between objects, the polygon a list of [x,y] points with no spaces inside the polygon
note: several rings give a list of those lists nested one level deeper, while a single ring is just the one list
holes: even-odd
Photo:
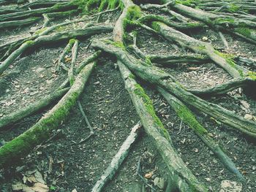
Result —
[{"label": "long thick gnarled root running diagonally from blunt centre end to right edge", "polygon": [[122,61],[123,64],[125,64],[141,79],[165,88],[165,90],[173,93],[174,96],[176,96],[181,101],[184,101],[184,103],[195,107],[197,110],[205,112],[207,115],[210,115],[211,117],[222,123],[225,123],[228,126],[236,128],[249,137],[256,138],[256,124],[254,122],[246,120],[236,115],[234,112],[230,112],[223,107],[219,107],[217,104],[212,104],[208,101],[200,99],[192,93],[189,93],[188,91],[184,90],[184,88],[181,88],[181,85],[176,83],[170,74],[166,74],[165,72],[148,66],[148,64],[143,63],[142,61],[138,61],[138,59],[128,55],[127,52],[122,50],[120,47],[106,44],[99,40],[94,40],[91,45],[92,47],[116,55],[116,57]]}]

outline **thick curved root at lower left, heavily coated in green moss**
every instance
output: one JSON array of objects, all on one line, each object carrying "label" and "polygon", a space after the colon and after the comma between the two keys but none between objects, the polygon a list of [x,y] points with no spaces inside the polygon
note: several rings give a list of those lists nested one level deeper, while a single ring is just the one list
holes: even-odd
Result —
[{"label": "thick curved root at lower left, heavily coated in green moss", "polygon": [[8,164],[14,164],[19,158],[25,157],[30,153],[36,145],[49,139],[53,129],[61,125],[63,120],[69,115],[72,107],[76,104],[94,66],[95,63],[85,66],[65,96],[34,126],[0,147],[0,169]]}]

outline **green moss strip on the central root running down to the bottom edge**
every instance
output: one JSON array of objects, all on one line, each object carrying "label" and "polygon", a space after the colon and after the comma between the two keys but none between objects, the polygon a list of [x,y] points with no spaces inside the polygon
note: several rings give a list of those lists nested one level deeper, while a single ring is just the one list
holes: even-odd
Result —
[{"label": "green moss strip on the central root running down to the bottom edge", "polygon": [[144,102],[147,112],[153,118],[154,123],[159,127],[160,134],[162,134],[162,136],[165,137],[165,139],[170,141],[170,135],[169,135],[168,131],[165,129],[161,120],[159,120],[156,113],[154,112],[153,103],[152,103],[151,99],[147,96],[147,94],[145,93],[143,88],[139,84],[136,84],[134,92],[137,96],[139,96],[141,99],[143,99],[143,102]]}]

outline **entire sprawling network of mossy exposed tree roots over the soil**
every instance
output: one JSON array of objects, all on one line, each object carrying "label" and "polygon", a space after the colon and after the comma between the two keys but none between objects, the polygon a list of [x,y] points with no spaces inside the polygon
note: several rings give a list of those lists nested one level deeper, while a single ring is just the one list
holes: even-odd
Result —
[{"label": "entire sprawling network of mossy exposed tree roots over the soil", "polygon": [[[18,1],[12,0],[0,0],[0,5],[9,4],[10,2],[18,3]],[[51,139],[52,137],[50,137],[50,135],[53,129],[61,125],[62,121],[67,118],[67,115],[76,103],[78,104],[86,124],[89,126],[90,134],[85,139],[80,140],[80,142],[75,142],[75,144],[86,142],[94,135],[94,129],[91,127],[78,98],[83,91],[91,71],[96,65],[94,61],[102,52],[105,52],[116,56],[121,77],[124,80],[125,88],[132,99],[135,110],[140,117],[141,126],[146,130],[148,136],[151,137],[159,154],[167,165],[170,180],[166,190],[183,192],[208,191],[206,186],[200,183],[195,175],[187,168],[184,161],[176,152],[170,134],[154,112],[151,99],[149,99],[143,88],[136,82],[135,75],[141,80],[156,85],[158,91],[162,93],[162,96],[165,97],[173,110],[176,111],[179,118],[192,128],[195,134],[197,134],[203,143],[217,155],[219,160],[222,161],[230,172],[236,174],[239,180],[244,181],[243,175],[236,169],[233,161],[223,152],[219,144],[208,136],[208,131],[197,121],[195,115],[193,115],[189,108],[204,112],[209,117],[255,139],[255,122],[246,120],[236,115],[234,112],[201,98],[206,96],[219,96],[233,91],[236,88],[249,88],[249,86],[255,85],[255,72],[251,72],[238,64],[250,66],[250,69],[252,69],[256,62],[252,59],[219,53],[210,43],[189,37],[185,33],[208,26],[214,28],[214,30],[219,33],[219,37],[227,48],[229,46],[222,34],[223,31],[236,34],[236,36],[256,44],[256,17],[238,9],[231,11],[230,3],[224,1],[195,1],[194,5],[191,1],[156,1],[156,3],[159,2],[165,4],[146,4],[140,7],[142,9],[159,9],[167,13],[167,15],[170,15],[170,17],[143,14],[140,7],[134,4],[132,0],[29,1],[29,3],[23,6],[10,5],[9,7],[0,7],[0,28],[24,26],[37,22],[39,17],[44,18],[42,28],[34,31],[31,37],[19,39],[18,41],[9,42],[0,46],[0,52],[2,54],[6,51],[1,58],[1,61],[4,61],[0,64],[0,75],[3,74],[20,54],[23,54],[24,51],[29,48],[70,39],[58,58],[57,66],[58,69],[62,67],[67,71],[67,80],[62,83],[56,92],[46,96],[44,99],[40,99],[34,104],[30,104],[28,107],[0,119],[1,130],[41,110],[43,107],[48,106],[65,94],[58,104],[47,112],[39,122],[29,128],[28,131],[25,131],[12,141],[7,142],[6,145],[0,147],[0,169],[6,165],[14,164],[16,160],[30,153],[34,147],[45,142],[45,140],[49,140],[49,138]],[[140,1],[137,1],[137,3],[140,3]],[[184,4],[187,4],[187,6]],[[235,4],[237,6],[246,7],[250,13],[256,11],[256,5],[253,2],[246,1],[241,3],[240,1],[236,1]],[[193,8],[195,5],[205,10],[214,11],[214,13],[195,9]],[[114,28],[105,23],[93,25],[91,22],[87,23],[85,26],[77,25],[78,28],[68,28],[68,25],[72,23],[92,19],[96,19],[96,22],[98,22],[101,15],[116,11],[117,9],[121,9],[122,12]],[[227,12],[223,12],[224,10]],[[62,18],[81,11],[89,14],[89,16],[85,15],[83,18],[48,27],[51,19]],[[63,26],[67,27],[63,30]],[[176,42],[178,45],[181,45],[182,48],[188,48],[195,53],[200,53],[200,55],[144,55],[136,45],[137,39],[133,31],[131,33],[132,35],[127,34],[128,30],[133,30],[132,27],[145,28],[153,34],[164,37],[171,43]],[[113,42],[108,39],[92,40],[88,47],[91,45],[98,51],[82,61],[77,69],[75,69],[75,62],[78,55],[77,39],[80,37],[90,37],[94,34],[108,33],[110,31],[113,31]],[[131,36],[133,38],[133,45],[128,45]],[[135,55],[135,57],[130,55],[127,50],[129,53]],[[71,64],[66,66],[64,64],[64,56],[70,51],[72,53]],[[214,61],[214,63],[221,66],[222,69],[225,69],[234,79],[211,88],[192,89],[184,87],[170,74],[163,72],[157,68],[157,66],[151,64],[172,66],[178,63],[204,64],[208,61]],[[237,61],[237,64],[234,61]],[[70,85],[70,88],[66,88],[68,85]],[[135,142],[135,139],[138,137],[139,128],[139,123],[132,128],[129,137],[127,137],[126,141],[111,161],[108,169],[105,170],[104,174],[102,174],[94,185],[92,191],[102,191],[106,183],[116,174],[121,162],[126,158],[132,143]]]}]

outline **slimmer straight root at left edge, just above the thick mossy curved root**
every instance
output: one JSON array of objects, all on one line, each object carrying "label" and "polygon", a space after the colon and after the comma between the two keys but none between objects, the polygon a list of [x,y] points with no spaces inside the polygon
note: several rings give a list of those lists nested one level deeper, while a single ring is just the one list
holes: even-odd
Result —
[{"label": "slimmer straight root at left edge, just above the thick mossy curved root", "polygon": [[23,107],[20,110],[4,116],[0,119],[0,130],[8,125],[18,122],[18,120],[22,120],[23,118],[29,117],[29,115],[33,115],[35,112],[42,110],[44,107],[52,104],[53,101],[56,101],[56,99],[61,98],[61,96],[67,93],[67,91],[69,91],[69,88],[64,88],[59,91],[50,93],[50,95],[39,99],[33,104],[29,104],[28,106]]}]

